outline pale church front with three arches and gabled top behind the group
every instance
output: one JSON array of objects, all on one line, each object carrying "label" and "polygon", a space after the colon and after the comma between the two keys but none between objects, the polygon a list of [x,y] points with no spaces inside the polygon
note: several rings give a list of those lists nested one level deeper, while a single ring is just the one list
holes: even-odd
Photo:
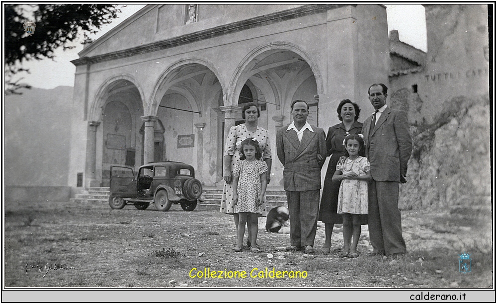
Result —
[{"label": "pale church front with three arches and gabled top behind the group", "polygon": [[224,140],[243,103],[275,155],[290,104],[309,121],[338,123],[351,99],[371,110],[371,83],[389,81],[386,8],[377,4],[149,4],[85,45],[76,66],[69,186],[107,186],[111,165],[189,163],[206,186],[222,181]]}]

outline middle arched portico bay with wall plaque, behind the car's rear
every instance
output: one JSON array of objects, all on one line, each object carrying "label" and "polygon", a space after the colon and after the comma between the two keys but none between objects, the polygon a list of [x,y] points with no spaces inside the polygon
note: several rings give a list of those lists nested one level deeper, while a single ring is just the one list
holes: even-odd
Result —
[{"label": "middle arched portico bay with wall plaque, behind the car's rear", "polygon": [[204,175],[204,182],[217,181],[217,167],[222,162],[217,157],[222,153],[217,144],[222,142],[218,124],[222,120],[212,109],[219,108],[223,98],[221,82],[214,65],[199,58],[179,60],[166,69],[145,111],[165,129],[163,144],[144,144],[145,148],[155,147],[144,151],[148,159],[190,163],[198,177]]}]

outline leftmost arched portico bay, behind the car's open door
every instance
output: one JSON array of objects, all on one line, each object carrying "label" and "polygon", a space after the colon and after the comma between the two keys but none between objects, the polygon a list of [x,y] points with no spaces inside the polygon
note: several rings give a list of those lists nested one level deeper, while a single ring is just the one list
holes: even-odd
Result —
[{"label": "leftmost arched portico bay, behind the car's open door", "polygon": [[142,163],[144,93],[131,75],[112,76],[97,90],[90,105],[86,179],[89,186],[107,186],[110,166]]}]

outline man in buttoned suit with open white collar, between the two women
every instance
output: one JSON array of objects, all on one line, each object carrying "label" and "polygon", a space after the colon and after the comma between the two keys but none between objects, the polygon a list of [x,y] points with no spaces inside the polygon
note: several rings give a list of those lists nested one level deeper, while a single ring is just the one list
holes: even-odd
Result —
[{"label": "man in buttoned suit with open white collar, between the two women", "polygon": [[291,105],[293,122],[276,132],[276,152],[283,169],[283,186],[290,210],[290,246],[287,251],[313,253],[318,223],[321,167],[327,155],[325,131],[307,122],[309,106]]}]

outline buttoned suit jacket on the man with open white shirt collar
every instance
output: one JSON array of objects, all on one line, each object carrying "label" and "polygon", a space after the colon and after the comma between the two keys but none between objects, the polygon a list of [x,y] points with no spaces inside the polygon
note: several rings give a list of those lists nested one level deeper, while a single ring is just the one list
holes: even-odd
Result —
[{"label": "buttoned suit jacket on the man with open white shirt collar", "polygon": [[[311,126],[305,130],[302,142],[288,125],[276,132],[276,153],[283,169],[283,187],[288,191],[321,189],[321,167],[327,156],[325,131]],[[319,154],[319,156],[318,156]]]}]

